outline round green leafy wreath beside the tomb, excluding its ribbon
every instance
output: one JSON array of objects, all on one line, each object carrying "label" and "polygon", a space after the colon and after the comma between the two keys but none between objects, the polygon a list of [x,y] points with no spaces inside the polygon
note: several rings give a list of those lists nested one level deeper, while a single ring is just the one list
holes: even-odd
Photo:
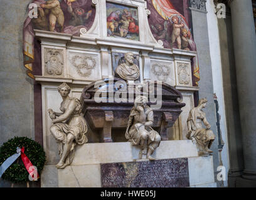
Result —
[{"label": "round green leafy wreath beside the tomb, excluding its ribbon", "polygon": [[[17,147],[24,147],[24,154],[28,156],[33,166],[36,166],[38,174],[40,174],[46,161],[45,151],[43,151],[43,148],[39,143],[36,143],[36,141],[26,137],[14,137],[9,139],[3,144],[3,146],[1,146],[0,166],[7,158],[16,153]],[[19,158],[13,164],[11,164],[8,169],[6,169],[2,178],[13,183],[21,183],[29,181],[28,175],[28,171],[26,170],[23,162],[21,161],[21,157],[19,156]]]}]

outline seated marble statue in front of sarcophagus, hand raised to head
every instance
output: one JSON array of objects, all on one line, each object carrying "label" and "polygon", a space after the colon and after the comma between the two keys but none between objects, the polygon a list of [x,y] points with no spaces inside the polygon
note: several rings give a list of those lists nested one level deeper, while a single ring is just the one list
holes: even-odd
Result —
[{"label": "seated marble statue in front of sarcophagus, hand raised to head", "polygon": [[125,138],[132,145],[141,146],[140,159],[144,154],[147,155],[149,160],[154,160],[151,154],[159,146],[161,136],[151,128],[154,121],[154,114],[146,103],[147,98],[145,96],[137,96],[129,116]]}]

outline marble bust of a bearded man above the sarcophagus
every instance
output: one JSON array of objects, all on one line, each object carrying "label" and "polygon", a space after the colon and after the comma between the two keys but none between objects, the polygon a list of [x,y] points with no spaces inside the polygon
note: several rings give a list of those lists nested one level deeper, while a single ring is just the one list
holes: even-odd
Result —
[{"label": "marble bust of a bearded man above the sarcophagus", "polygon": [[139,67],[134,64],[134,54],[131,52],[125,53],[124,59],[125,63],[119,64],[117,69],[115,69],[117,76],[125,81],[135,81],[139,79]]}]

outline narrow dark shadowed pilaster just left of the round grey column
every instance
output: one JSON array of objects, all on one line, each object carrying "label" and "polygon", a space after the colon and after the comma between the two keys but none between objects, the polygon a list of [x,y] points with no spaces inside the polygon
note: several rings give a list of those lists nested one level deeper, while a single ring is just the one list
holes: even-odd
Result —
[{"label": "narrow dark shadowed pilaster just left of the round grey column", "polygon": [[227,119],[228,143],[225,143],[225,146],[228,148],[230,158],[228,187],[235,187],[236,179],[242,175],[244,169],[243,144],[240,114],[239,109],[237,109],[237,76],[235,71],[231,12],[228,9],[228,6],[226,6],[226,8],[226,18],[218,19],[218,30],[220,36],[221,69]]}]

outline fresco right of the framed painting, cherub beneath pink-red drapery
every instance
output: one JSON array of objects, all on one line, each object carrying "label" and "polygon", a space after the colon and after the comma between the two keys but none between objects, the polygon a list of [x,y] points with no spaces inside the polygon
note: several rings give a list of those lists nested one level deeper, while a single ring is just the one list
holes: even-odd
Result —
[{"label": "fresco right of the framed painting, cherub beneath pink-red drapery", "polygon": [[[163,41],[168,49],[196,51],[196,44],[189,28],[187,1],[180,0],[146,0],[149,27],[156,41]],[[186,17],[184,17],[186,15]],[[198,86],[200,80],[198,59],[193,59],[193,83]]]}]

